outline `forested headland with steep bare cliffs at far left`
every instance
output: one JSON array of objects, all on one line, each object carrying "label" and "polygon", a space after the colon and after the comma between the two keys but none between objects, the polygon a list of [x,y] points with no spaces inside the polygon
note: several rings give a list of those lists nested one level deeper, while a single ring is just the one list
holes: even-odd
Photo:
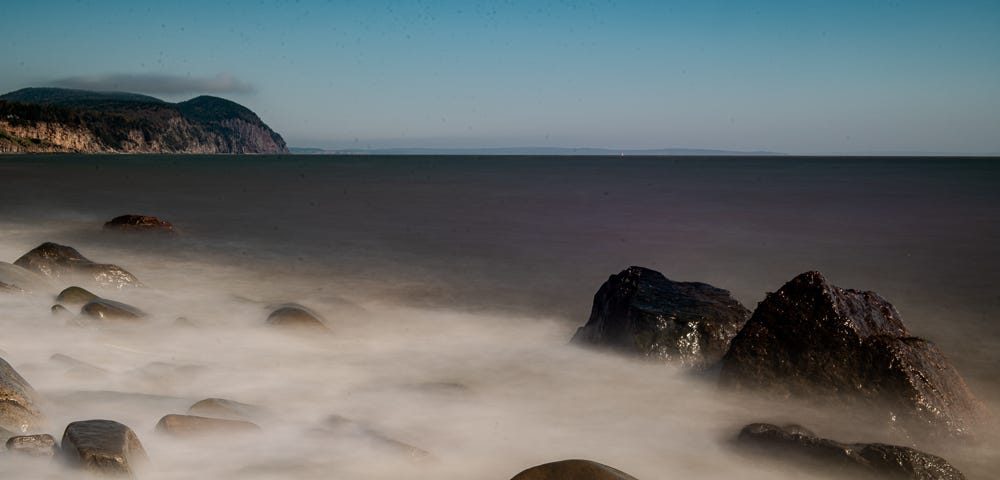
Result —
[{"label": "forested headland with steep bare cliffs at far left", "polygon": [[126,92],[25,88],[0,95],[0,153],[288,153],[248,108]]}]

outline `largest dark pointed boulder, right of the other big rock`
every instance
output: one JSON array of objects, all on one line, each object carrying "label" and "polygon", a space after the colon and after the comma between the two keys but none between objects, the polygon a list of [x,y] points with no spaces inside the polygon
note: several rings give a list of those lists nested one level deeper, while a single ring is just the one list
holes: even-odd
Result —
[{"label": "largest dark pointed boulder, right of the other big rock", "polygon": [[720,384],[799,397],[887,418],[921,436],[961,436],[985,407],[932,343],[911,337],[872,292],[807,272],[771,293],[733,339]]}]

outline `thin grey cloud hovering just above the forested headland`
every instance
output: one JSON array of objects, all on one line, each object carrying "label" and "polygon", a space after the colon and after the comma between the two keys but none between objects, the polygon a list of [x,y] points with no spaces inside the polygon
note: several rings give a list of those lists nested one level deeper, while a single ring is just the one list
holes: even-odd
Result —
[{"label": "thin grey cloud hovering just above the forested headland", "polygon": [[253,85],[228,73],[220,73],[214,77],[192,77],[161,73],[119,73],[68,77],[52,82],[52,86],[81,90],[165,95],[256,92]]}]

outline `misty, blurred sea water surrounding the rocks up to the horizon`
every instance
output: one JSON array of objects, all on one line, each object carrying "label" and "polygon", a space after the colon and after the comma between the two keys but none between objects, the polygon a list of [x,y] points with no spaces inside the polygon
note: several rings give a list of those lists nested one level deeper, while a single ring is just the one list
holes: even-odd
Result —
[{"label": "misty, blurred sea water surrounding the rocks up to the horizon", "polygon": [[[0,157],[0,179],[0,261],[53,241],[145,284],[96,291],[150,313],[139,324],[52,315],[58,282],[0,297],[0,356],[39,392],[43,431],[125,423],[151,459],[144,479],[508,479],[566,458],[643,480],[828,478],[731,441],[757,421],[900,441],[569,345],[597,288],[630,265],[750,309],[807,270],[874,290],[1000,411],[995,161],[54,155]],[[180,234],[102,232],[126,213]],[[268,328],[286,302],[330,333]],[[207,397],[259,406],[262,433],[155,431]],[[429,455],[345,435],[332,415]],[[984,430],[918,446],[992,478],[1000,449]],[[0,472],[70,476],[10,455]]]}]

